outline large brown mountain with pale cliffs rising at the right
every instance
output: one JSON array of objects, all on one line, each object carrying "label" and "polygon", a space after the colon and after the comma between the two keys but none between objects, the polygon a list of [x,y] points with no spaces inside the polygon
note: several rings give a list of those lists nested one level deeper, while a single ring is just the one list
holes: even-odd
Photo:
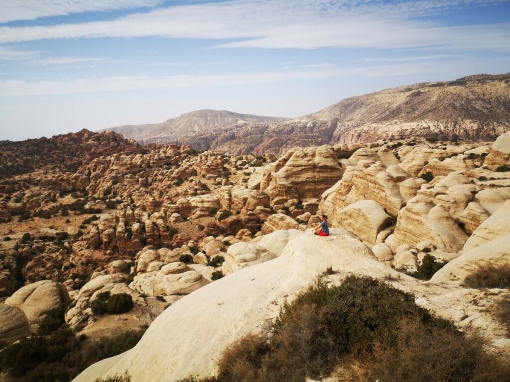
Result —
[{"label": "large brown mountain with pale cliffs rising at the right", "polygon": [[407,138],[494,140],[510,129],[510,73],[346,98],[290,121],[243,122],[182,140],[195,149],[282,155],[295,146]]}]

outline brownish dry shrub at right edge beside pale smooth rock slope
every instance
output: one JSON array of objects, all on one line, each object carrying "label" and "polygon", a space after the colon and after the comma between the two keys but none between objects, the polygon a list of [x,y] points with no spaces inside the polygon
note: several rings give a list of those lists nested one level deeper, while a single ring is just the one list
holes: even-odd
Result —
[{"label": "brownish dry shrub at right edge beside pale smooth rock slope", "polygon": [[510,262],[480,264],[478,269],[466,277],[464,285],[471,288],[508,288]]}]

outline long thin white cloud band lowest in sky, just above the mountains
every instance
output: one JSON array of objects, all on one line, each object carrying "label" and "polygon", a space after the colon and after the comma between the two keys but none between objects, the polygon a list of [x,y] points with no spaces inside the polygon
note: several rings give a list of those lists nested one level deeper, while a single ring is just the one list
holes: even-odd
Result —
[{"label": "long thin white cloud band lowest in sky, just above the mountains", "polygon": [[265,73],[172,75],[172,76],[110,76],[75,80],[5,80],[0,81],[0,97],[81,94],[111,91],[163,88],[197,88],[210,86],[276,83],[292,79],[317,79],[345,76],[401,76],[409,74],[440,73],[444,70],[437,63],[393,64],[371,68],[323,67],[308,70],[287,70]]}]

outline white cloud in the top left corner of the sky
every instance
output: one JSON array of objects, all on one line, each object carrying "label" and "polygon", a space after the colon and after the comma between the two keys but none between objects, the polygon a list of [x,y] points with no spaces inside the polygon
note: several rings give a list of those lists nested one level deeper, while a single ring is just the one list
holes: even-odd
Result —
[{"label": "white cloud in the top left corner of the sky", "polygon": [[2,0],[0,23],[35,20],[41,17],[69,15],[87,11],[111,11],[152,7],[163,0]]}]

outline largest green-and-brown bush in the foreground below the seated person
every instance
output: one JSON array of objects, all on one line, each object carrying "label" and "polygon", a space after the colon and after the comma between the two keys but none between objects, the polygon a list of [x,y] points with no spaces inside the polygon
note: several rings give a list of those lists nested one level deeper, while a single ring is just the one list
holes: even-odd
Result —
[{"label": "largest green-and-brown bush in the foreground below the seated person", "polygon": [[479,338],[433,317],[413,295],[349,276],[340,286],[311,286],[266,333],[226,348],[217,377],[180,382],[293,382],[338,369],[347,371],[342,381],[495,382],[510,375]]}]

